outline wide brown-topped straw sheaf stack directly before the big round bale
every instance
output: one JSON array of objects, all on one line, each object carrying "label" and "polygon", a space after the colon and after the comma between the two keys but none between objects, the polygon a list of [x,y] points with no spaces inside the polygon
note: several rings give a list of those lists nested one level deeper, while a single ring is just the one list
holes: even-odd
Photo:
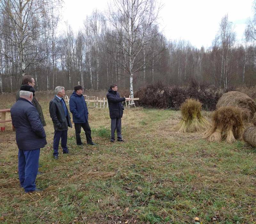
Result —
[{"label": "wide brown-topped straw sheaf stack directly before the big round bale", "polygon": [[203,138],[209,141],[228,143],[240,140],[244,130],[241,109],[237,107],[220,107],[212,114],[212,127],[203,133]]}]

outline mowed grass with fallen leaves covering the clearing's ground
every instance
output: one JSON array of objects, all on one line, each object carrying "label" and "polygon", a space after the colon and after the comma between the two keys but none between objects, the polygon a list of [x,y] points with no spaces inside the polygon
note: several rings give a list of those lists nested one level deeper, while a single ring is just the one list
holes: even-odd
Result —
[{"label": "mowed grass with fallen leaves covering the clearing's ground", "polygon": [[73,127],[71,154],[60,153],[56,161],[49,102],[40,104],[48,144],[41,149],[44,174],[36,184],[44,191],[25,194],[19,187],[15,132],[7,123],[0,133],[0,222],[195,223],[198,217],[198,223],[255,223],[256,150],[243,142],[178,134],[179,111],[132,108],[122,119],[125,142],[113,144],[108,108],[89,108],[99,145],[76,146]]}]

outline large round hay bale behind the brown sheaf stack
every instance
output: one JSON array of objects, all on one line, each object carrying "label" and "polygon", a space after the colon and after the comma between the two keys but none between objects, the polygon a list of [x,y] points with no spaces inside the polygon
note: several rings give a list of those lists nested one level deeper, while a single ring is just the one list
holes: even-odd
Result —
[{"label": "large round hay bale behind the brown sheaf stack", "polygon": [[248,122],[252,119],[256,112],[255,101],[247,96],[245,93],[231,91],[224,93],[216,104],[216,108],[234,106],[242,109],[242,118],[244,122]]}]

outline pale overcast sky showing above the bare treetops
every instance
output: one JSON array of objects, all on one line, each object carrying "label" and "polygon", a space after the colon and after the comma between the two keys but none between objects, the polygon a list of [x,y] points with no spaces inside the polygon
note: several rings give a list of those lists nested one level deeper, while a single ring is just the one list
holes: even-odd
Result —
[{"label": "pale overcast sky showing above the bare treetops", "polygon": [[[83,27],[93,9],[104,12],[111,0],[64,0],[62,24],[68,21],[75,32]],[[243,38],[246,21],[252,18],[253,0],[161,0],[159,27],[167,39],[184,39],[197,48],[211,46],[221,18],[228,14],[238,41]],[[60,25],[64,27],[64,25]]]}]

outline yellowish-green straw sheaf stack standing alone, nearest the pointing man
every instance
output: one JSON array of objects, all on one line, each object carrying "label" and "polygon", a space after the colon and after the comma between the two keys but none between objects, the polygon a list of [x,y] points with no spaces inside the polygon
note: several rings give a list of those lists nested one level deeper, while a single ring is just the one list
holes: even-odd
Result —
[{"label": "yellowish-green straw sheaf stack standing alone, nearest the pointing man", "polygon": [[188,98],[180,106],[181,121],[175,127],[180,133],[204,131],[209,125],[201,114],[202,104],[198,100]]}]

